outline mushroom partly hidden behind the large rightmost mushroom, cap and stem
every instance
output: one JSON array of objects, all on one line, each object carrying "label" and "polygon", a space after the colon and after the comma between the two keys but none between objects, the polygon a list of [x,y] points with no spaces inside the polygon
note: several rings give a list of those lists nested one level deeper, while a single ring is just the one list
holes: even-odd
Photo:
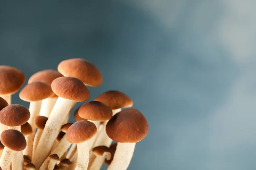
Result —
[{"label": "mushroom partly hidden behind the large rightmost mushroom, cap and stem", "polygon": [[[121,111],[122,108],[129,108],[129,107],[132,107],[133,105],[132,99],[120,91],[106,91],[105,93],[96,97],[94,101],[99,101],[104,103],[105,105],[108,105],[112,109],[113,115]],[[101,131],[99,131],[93,147],[101,146],[101,145],[109,147],[111,145],[112,139],[110,139],[106,134],[107,123],[108,121],[105,121],[104,124],[102,125],[102,129]],[[94,158],[95,156],[91,158],[91,161],[93,161]]]}]

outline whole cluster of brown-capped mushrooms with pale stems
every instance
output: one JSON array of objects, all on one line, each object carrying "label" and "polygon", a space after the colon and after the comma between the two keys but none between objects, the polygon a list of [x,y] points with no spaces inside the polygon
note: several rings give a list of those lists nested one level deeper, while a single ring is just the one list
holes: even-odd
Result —
[{"label": "whole cluster of brown-capped mushrooms with pale stems", "polygon": [[58,71],[33,74],[20,91],[29,108],[12,104],[25,76],[0,66],[0,170],[126,170],[135,144],[148,134],[148,122],[120,91],[106,91],[87,101],[87,86],[102,75],[85,59],[67,59]]}]

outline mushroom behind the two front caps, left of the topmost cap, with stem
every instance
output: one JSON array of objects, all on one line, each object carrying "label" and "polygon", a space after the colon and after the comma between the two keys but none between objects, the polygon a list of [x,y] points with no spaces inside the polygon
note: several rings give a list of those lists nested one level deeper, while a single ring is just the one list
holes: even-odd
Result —
[{"label": "mushroom behind the two front caps, left of the topmost cap, with stem", "polygon": [[[58,77],[63,77],[63,75],[56,70],[52,70],[52,69],[42,70],[33,74],[29,78],[28,84],[32,82],[44,82],[51,85],[52,81],[57,79]],[[53,96],[50,96],[47,99],[42,100],[39,115],[49,117],[49,114],[51,113],[52,108],[55,102],[57,101],[57,98],[58,96],[54,94]]]}]

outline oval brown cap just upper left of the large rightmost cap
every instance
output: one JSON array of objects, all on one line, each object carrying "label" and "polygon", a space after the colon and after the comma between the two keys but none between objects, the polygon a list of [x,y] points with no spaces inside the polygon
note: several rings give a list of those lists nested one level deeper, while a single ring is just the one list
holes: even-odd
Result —
[{"label": "oval brown cap just upper left of the large rightmost cap", "polygon": [[92,101],[81,105],[78,114],[84,119],[106,121],[112,117],[112,110],[102,102]]}]

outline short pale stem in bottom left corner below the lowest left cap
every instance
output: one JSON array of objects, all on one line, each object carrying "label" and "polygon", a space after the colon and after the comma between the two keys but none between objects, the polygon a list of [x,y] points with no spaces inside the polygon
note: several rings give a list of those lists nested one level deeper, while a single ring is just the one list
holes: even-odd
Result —
[{"label": "short pale stem in bottom left corner below the lowest left cap", "polygon": [[0,158],[0,167],[2,170],[9,170],[12,163],[13,150],[10,150],[8,147],[4,147],[2,156]]}]

